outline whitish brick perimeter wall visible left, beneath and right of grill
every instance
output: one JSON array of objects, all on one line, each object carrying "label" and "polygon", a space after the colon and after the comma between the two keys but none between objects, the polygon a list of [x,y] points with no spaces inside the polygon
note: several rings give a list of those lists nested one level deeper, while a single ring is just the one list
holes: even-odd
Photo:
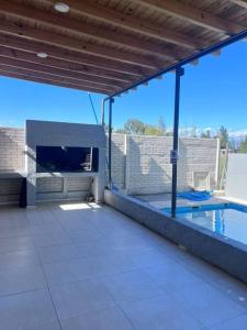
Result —
[{"label": "whitish brick perimeter wall visible left, beneath and right of grill", "polygon": [[[112,135],[112,177],[119,189],[128,194],[157,194],[171,190],[170,150],[172,138]],[[209,172],[211,188],[215,186],[217,170],[217,140],[182,138],[179,141],[178,189],[187,190],[193,185],[193,172]],[[106,151],[108,156],[108,151]],[[24,130],[0,129],[0,169],[24,169]],[[69,189],[75,190],[75,183],[68,183]],[[89,186],[89,183],[78,183]],[[47,188],[46,180],[38,182],[38,193]],[[53,189],[50,183],[48,190]],[[4,182],[0,190],[0,201],[7,199],[8,187],[20,188],[16,183]],[[57,186],[56,186],[57,187]],[[54,187],[54,188],[56,188]],[[80,190],[81,187],[76,187]],[[59,186],[59,190],[61,187]],[[11,196],[12,196],[11,195]],[[13,199],[13,196],[10,199]]]}]

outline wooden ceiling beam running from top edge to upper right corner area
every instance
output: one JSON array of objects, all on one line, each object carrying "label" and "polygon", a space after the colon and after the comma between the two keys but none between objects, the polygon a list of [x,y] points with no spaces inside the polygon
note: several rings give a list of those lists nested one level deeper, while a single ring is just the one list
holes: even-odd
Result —
[{"label": "wooden ceiling beam running from top edge to upper right corner area", "polygon": [[183,4],[176,0],[133,0],[136,3],[145,4],[161,13],[169,13],[179,19],[183,19],[193,24],[203,26],[209,30],[223,32],[226,34],[235,34],[244,31],[246,26],[229,22],[225,19],[216,16],[210,12],[197,9],[192,6]]}]

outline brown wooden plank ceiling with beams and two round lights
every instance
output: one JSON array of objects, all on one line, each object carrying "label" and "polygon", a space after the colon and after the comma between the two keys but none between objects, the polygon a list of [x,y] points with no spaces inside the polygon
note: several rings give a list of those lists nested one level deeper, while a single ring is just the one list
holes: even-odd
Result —
[{"label": "brown wooden plank ceiling with beams and two round lights", "polygon": [[247,0],[57,2],[0,0],[0,75],[111,95],[247,28]]}]

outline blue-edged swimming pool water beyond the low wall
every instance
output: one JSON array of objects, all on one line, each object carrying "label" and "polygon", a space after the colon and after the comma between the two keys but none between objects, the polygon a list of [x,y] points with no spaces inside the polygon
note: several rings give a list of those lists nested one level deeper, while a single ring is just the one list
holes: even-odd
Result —
[{"label": "blue-edged swimming pool water beyond the low wall", "polygon": [[[170,209],[164,209],[170,213]],[[177,218],[183,218],[217,234],[247,244],[247,207],[236,204],[178,207]]]}]

